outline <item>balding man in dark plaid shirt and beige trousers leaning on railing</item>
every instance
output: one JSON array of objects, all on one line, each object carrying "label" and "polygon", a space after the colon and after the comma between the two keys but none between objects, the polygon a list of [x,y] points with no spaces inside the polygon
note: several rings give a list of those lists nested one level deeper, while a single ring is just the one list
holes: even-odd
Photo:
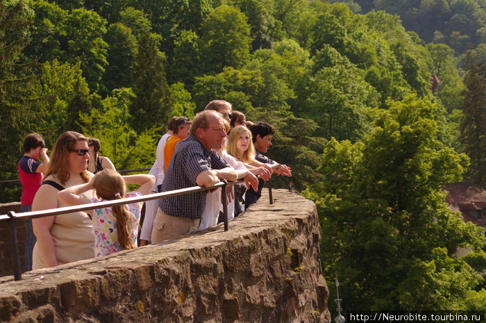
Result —
[{"label": "balding man in dark plaid shirt and beige trousers leaning on railing", "polygon": [[[223,118],[212,110],[198,113],[192,121],[190,135],[181,140],[172,156],[162,192],[193,186],[209,187],[221,180],[236,181],[237,173],[213,148],[226,140]],[[228,199],[232,199],[228,195]],[[197,231],[206,206],[206,191],[167,197],[159,200],[153,222],[153,243],[183,238]]]}]

